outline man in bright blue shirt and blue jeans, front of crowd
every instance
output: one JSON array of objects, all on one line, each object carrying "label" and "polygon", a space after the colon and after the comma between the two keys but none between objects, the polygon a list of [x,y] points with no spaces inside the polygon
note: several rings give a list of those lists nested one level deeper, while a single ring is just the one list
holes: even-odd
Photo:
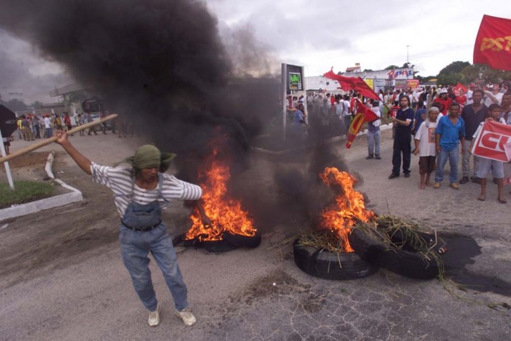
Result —
[{"label": "man in bright blue shirt and blue jeans, front of crowd", "polygon": [[458,116],[459,104],[452,102],[449,107],[449,115],[443,116],[436,126],[436,159],[437,167],[435,174],[434,188],[440,188],[443,180],[443,168],[447,159],[451,172],[449,175],[450,187],[459,190],[458,185],[458,160],[461,141],[461,153],[463,153],[465,142],[465,122]]}]

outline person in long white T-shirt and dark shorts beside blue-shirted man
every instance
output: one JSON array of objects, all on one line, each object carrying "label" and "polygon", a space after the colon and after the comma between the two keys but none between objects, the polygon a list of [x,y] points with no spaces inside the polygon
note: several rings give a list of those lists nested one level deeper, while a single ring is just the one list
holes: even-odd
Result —
[{"label": "person in long white T-shirt and dark shorts beside blue-shirted man", "polygon": [[440,113],[438,108],[431,107],[427,112],[427,118],[421,123],[415,133],[414,154],[419,156],[418,173],[421,175],[421,185],[419,186],[421,190],[425,190],[426,186],[431,186],[430,177],[434,170],[436,159],[435,132],[438,113]]}]

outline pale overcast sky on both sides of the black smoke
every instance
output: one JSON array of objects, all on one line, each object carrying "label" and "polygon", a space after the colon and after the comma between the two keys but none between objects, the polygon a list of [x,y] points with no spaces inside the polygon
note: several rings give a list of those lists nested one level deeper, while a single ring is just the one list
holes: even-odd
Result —
[{"label": "pale overcast sky on both sides of the black smoke", "polygon": [[[511,1],[494,0],[209,0],[220,33],[249,30],[275,64],[305,66],[306,76],[333,66],[360,63],[379,70],[409,62],[420,75],[436,75],[447,64],[472,63],[483,14],[511,17]],[[226,41],[229,38],[226,38]],[[27,95],[73,82],[64,67],[38,57],[27,42],[0,30],[0,87]],[[407,46],[409,46],[407,48]]]}]

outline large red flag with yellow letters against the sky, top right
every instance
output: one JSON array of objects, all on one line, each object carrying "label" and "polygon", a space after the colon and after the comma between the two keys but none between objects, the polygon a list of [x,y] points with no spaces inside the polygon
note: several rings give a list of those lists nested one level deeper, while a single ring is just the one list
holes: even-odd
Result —
[{"label": "large red flag with yellow letters against the sky, top right", "polygon": [[511,71],[511,19],[483,15],[474,46],[474,64]]}]

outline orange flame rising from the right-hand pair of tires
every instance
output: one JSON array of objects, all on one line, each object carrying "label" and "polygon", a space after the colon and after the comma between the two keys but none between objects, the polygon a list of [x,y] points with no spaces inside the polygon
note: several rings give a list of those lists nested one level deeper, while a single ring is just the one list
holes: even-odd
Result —
[{"label": "orange flame rising from the right-hand pair of tires", "polygon": [[354,252],[349,245],[348,235],[355,220],[369,221],[374,212],[365,209],[364,197],[353,189],[356,179],[347,172],[339,172],[337,168],[327,167],[320,174],[322,181],[331,187],[338,185],[342,193],[336,197],[336,203],[321,212],[320,224],[341,239],[346,252]]}]

